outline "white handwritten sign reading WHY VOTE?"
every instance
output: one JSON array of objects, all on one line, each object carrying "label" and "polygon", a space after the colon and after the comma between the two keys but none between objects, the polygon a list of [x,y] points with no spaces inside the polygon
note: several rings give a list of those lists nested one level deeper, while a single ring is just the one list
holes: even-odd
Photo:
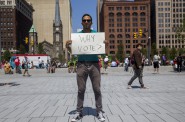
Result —
[{"label": "white handwritten sign reading WHY VOTE?", "polygon": [[72,33],[72,54],[105,54],[105,33]]}]

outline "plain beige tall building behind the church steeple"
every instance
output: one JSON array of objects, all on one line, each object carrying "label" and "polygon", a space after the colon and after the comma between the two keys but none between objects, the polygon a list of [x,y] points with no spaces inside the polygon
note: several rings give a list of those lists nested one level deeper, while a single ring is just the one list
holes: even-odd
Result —
[{"label": "plain beige tall building behind the church steeple", "polygon": [[[27,0],[35,9],[33,24],[38,34],[38,42],[47,41],[51,44],[53,38],[53,21],[55,18],[55,0]],[[70,39],[72,31],[72,8],[70,0],[60,0],[60,16],[63,25],[63,49],[65,42]]]}]

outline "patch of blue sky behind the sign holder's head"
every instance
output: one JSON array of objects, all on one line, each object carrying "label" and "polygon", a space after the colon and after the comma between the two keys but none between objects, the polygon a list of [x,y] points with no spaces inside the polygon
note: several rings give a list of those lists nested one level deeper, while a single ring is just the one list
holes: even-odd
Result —
[{"label": "patch of blue sky behind the sign holder's head", "polygon": [[97,0],[71,0],[72,6],[72,28],[73,32],[82,29],[81,19],[83,14],[88,13],[93,18],[93,30],[97,31],[96,6]]}]

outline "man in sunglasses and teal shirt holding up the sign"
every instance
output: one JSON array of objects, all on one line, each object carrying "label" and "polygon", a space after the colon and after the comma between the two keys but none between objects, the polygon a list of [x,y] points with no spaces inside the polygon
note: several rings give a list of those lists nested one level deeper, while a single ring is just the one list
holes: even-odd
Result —
[{"label": "man in sunglasses and teal shirt holding up the sign", "polygon": [[[84,14],[82,16],[82,26],[83,30],[80,33],[95,33],[94,30],[91,30],[92,17],[89,14]],[[70,49],[71,40],[66,42],[66,47]],[[77,85],[78,85],[78,96],[77,96],[77,112],[72,122],[76,122],[83,117],[83,103],[84,103],[84,94],[86,89],[86,81],[88,76],[91,79],[93,91],[95,94],[96,101],[96,111],[97,118],[101,121],[105,121],[102,110],[102,95],[100,90],[100,67],[98,64],[98,55],[79,55],[77,63]]]}]

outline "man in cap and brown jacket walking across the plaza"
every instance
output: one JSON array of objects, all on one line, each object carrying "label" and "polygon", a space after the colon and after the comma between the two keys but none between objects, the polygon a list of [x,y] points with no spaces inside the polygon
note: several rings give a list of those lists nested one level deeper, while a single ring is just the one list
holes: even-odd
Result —
[{"label": "man in cap and brown jacket walking across the plaza", "polygon": [[131,89],[132,82],[138,77],[139,83],[141,85],[141,88],[146,89],[147,87],[143,84],[143,56],[141,53],[142,45],[139,43],[137,44],[137,49],[133,52],[133,69],[134,69],[134,76],[130,79],[128,82],[128,89]]}]

